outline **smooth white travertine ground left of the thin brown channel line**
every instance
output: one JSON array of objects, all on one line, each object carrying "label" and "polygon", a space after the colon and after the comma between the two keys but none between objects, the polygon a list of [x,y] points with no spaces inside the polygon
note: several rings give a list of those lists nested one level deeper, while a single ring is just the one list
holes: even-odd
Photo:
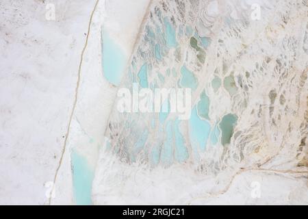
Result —
[{"label": "smooth white travertine ground left of the thin brown channel line", "polygon": [[1,1],[0,203],[47,201],[94,1]]}]

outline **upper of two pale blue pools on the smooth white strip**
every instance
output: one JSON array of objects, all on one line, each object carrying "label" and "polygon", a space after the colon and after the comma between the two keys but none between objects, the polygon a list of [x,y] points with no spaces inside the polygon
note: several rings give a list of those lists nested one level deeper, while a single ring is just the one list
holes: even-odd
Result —
[{"label": "upper of two pale blue pools on the smooth white strip", "polygon": [[103,74],[107,81],[118,86],[125,70],[125,55],[107,31],[102,31],[102,41]]}]

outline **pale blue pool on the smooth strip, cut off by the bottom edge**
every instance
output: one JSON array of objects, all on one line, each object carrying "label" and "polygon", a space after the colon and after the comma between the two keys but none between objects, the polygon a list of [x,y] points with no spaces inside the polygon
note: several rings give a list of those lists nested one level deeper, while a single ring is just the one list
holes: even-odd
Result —
[{"label": "pale blue pool on the smooth strip, cut off by the bottom edge", "polygon": [[91,190],[94,170],[90,168],[85,157],[77,152],[71,153],[73,166],[73,192],[76,205],[92,205]]}]

